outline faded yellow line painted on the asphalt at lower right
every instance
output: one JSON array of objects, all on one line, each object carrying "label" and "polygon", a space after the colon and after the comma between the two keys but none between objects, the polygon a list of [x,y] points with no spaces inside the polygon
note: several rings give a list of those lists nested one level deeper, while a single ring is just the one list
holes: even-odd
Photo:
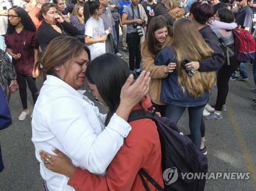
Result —
[{"label": "faded yellow line painted on the asphalt at lower right", "polygon": [[238,144],[240,146],[242,155],[245,159],[246,168],[250,172],[250,179],[252,181],[252,185],[254,186],[254,189],[256,190],[256,168],[254,166],[254,162],[252,160],[250,151],[247,147],[246,141],[244,140],[241,128],[239,127],[238,122],[234,117],[234,112],[231,109],[231,105],[228,100],[226,100],[226,105],[228,107],[227,113],[229,115],[230,122],[234,130],[234,134],[236,134],[237,136]]}]

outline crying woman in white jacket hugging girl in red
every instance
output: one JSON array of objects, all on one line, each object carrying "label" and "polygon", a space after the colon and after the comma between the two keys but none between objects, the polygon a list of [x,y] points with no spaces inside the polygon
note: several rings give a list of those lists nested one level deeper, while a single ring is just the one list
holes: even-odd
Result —
[{"label": "crying woman in white jacket hugging girl in red", "polygon": [[99,113],[98,108],[83,96],[84,91],[78,90],[83,86],[89,60],[88,47],[66,36],[53,39],[41,59],[47,80],[33,112],[32,141],[41,176],[49,190],[74,189],[67,185],[67,177],[45,168],[38,151],[54,154],[51,148],[58,148],[74,165],[104,174],[131,130],[126,123],[130,111],[148,91],[149,74],[144,71],[133,85],[130,75],[122,88],[120,105],[105,127],[106,115]]}]

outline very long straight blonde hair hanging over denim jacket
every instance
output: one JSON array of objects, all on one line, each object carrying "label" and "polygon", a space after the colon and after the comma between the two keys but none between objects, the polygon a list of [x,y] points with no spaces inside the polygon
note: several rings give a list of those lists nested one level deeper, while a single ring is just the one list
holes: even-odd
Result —
[{"label": "very long straight blonde hair hanging over denim jacket", "polygon": [[210,91],[215,83],[215,71],[196,71],[193,76],[188,76],[181,66],[183,60],[199,61],[214,55],[214,52],[204,41],[193,22],[186,18],[181,18],[174,23],[174,37],[171,44],[177,54],[178,83],[187,91],[190,96],[203,96],[205,91]]}]

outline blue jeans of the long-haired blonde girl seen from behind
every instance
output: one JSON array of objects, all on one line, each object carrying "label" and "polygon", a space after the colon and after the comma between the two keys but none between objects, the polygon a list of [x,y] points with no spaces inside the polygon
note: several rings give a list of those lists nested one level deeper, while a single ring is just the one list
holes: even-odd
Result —
[{"label": "blue jeans of the long-haired blonde girl seen from behind", "polygon": [[[184,113],[186,107],[180,107],[168,104],[166,107],[165,116],[172,120],[175,124],[178,123],[180,117]],[[189,115],[189,129],[191,133],[191,140],[196,146],[197,150],[201,146],[201,120],[204,111],[204,105],[198,107],[188,107]]]}]

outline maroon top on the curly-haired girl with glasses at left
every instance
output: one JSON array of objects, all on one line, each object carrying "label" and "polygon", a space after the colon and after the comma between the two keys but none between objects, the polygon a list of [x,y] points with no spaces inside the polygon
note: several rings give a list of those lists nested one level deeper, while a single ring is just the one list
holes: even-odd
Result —
[{"label": "maroon top on the curly-haired girl with glasses at left", "polygon": [[39,43],[36,32],[23,29],[20,33],[15,30],[12,34],[6,33],[5,43],[7,49],[12,49],[13,54],[21,54],[18,60],[12,59],[12,64],[19,74],[32,76],[34,68],[34,49],[38,49]]}]

